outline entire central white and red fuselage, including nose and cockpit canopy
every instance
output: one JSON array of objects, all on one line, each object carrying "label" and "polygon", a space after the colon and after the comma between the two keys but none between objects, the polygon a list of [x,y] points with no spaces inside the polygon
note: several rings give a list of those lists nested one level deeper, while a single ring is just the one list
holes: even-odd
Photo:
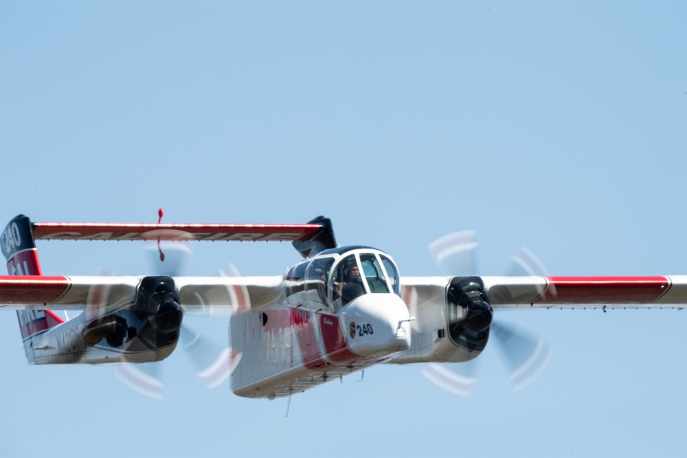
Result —
[{"label": "entire central white and red fuselage, including nose and cockpit canopy", "polygon": [[[359,264],[365,275],[347,282],[344,262]],[[411,317],[394,292],[392,266],[380,251],[360,247],[324,252],[287,271],[280,300],[232,317],[231,346],[242,354],[232,391],[289,396],[408,350]],[[359,295],[346,297],[356,280]]]}]

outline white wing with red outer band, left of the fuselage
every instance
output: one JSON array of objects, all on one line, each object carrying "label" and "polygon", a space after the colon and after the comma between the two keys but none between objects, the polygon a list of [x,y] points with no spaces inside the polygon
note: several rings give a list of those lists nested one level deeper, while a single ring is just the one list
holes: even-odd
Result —
[{"label": "white wing with red outer band, left of the fuselage", "polygon": [[[117,309],[135,300],[144,277],[1,275],[0,309]],[[282,295],[282,277],[174,277],[181,306],[191,311],[241,311]],[[93,299],[106,291],[106,301]]]}]

